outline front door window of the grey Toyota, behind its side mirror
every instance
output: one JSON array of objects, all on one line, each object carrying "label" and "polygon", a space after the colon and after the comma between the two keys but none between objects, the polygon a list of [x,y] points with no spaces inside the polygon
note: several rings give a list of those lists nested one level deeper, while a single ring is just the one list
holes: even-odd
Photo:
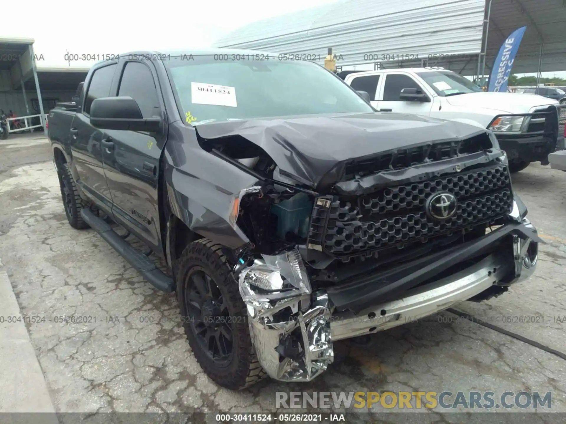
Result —
[{"label": "front door window of the grey Toyota, behind its side mirror", "polygon": [[159,98],[151,70],[143,63],[128,62],[122,73],[118,96],[129,96],[138,102],[144,118],[161,116]]}]

